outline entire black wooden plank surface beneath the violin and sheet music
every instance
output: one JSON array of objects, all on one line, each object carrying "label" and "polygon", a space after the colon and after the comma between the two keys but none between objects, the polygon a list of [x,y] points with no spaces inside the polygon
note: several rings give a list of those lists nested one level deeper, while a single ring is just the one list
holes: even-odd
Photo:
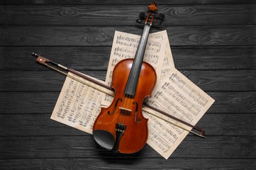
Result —
[{"label": "entire black wooden plank surface beneath the violin and sheet music", "polygon": [[156,1],[175,66],[215,99],[168,160],[100,148],[50,119],[65,77],[36,52],[104,80],[114,31],[140,34],[148,1],[0,0],[0,169],[256,169],[256,2]]}]

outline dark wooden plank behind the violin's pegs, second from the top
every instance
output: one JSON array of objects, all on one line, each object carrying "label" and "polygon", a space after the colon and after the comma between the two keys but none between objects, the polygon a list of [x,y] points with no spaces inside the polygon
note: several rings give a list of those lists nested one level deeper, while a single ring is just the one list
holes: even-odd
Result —
[{"label": "dark wooden plank behind the violin's pegs, second from the top", "polygon": [[[2,25],[135,25],[146,5],[9,5],[0,7]],[[256,5],[160,6],[164,26],[252,25]],[[108,20],[108,22],[105,22]]]}]

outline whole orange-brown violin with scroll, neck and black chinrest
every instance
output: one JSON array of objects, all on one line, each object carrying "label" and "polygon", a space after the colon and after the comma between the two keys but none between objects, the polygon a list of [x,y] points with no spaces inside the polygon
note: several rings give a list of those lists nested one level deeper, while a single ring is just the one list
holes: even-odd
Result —
[{"label": "whole orange-brown violin with scroll, neck and black chinrest", "polygon": [[[158,10],[156,3],[153,2],[148,9],[148,15],[145,17],[140,13],[141,20],[137,20],[144,24],[144,30],[135,58],[123,59],[114,67],[111,84],[114,99],[109,107],[101,108],[93,125],[96,143],[123,154],[138,152],[148,139],[148,119],[142,115],[142,104],[146,97],[151,96],[157,75],[143,57],[152,24],[161,24],[164,18],[163,14],[155,14]],[[154,21],[155,18],[158,22]]]}]

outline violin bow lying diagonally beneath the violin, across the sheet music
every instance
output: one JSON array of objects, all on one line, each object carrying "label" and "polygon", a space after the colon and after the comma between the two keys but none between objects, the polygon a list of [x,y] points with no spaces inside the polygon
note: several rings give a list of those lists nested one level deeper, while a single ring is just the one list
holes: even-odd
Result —
[{"label": "violin bow lying diagonally beneath the violin, across the sheet music", "polygon": [[[100,91],[100,92],[103,92],[103,93],[107,93],[108,95],[111,95],[111,96],[114,96],[114,90],[112,88],[110,88],[110,86],[107,86],[106,84],[102,84],[98,81],[96,81],[95,79],[83,74],[83,73],[80,73],[79,71],[75,71],[74,69],[70,69],[68,67],[64,67],[63,65],[60,65],[54,61],[51,61],[50,59],[47,59],[47,58],[44,58],[43,56],[40,56],[38,54],[35,54],[35,53],[32,53],[32,56],[34,56],[36,59],[36,61],[38,61],[39,63],[41,63],[42,65],[45,65],[46,67],[50,68],[50,69],[53,69],[54,71],[57,71],[58,73],[61,73],[62,75],[66,75],[74,80],[77,80],[78,82],[81,82],[87,86],[90,86],[91,88],[95,88],[96,90]],[[51,64],[51,65],[49,65]],[[57,69],[56,67],[53,67],[52,65],[64,70],[64,71],[68,71],[70,73],[73,73],[74,75],[77,75],[81,78],[84,78],[85,80],[89,81],[89,82],[93,82],[95,84],[97,84],[98,86],[102,87],[102,88],[105,88],[105,90],[102,90],[102,88],[97,88],[96,86],[92,86],[91,84],[83,81],[83,80],[80,80],[79,78],[76,78],[75,76],[72,76],[72,75],[68,75],[68,73],[65,73],[64,71],[60,70],[60,69]],[[170,124],[173,124],[177,127],[180,127],[181,129],[184,129],[185,131],[188,131],[194,135],[197,135],[199,137],[203,137],[203,138],[206,138],[205,137],[205,131],[203,129],[200,129],[199,127],[196,127],[196,126],[193,126],[192,124],[188,124],[187,122],[185,122],[184,120],[181,120],[179,118],[176,118],[175,116],[172,116],[170,114],[167,114],[166,112],[163,112],[162,110],[160,109],[156,109],[155,107],[152,107],[150,105],[148,105],[147,103],[143,103],[144,107],[146,109],[143,109],[144,111],[148,112],[149,114],[152,114],[153,116],[156,116],[157,118],[160,118],[161,120],[164,120],[165,122],[168,122]],[[160,114],[163,114],[164,116],[167,116],[173,120],[176,120],[177,122],[180,122],[181,124],[184,124],[188,127],[192,127],[192,129],[195,129],[197,131],[199,131],[200,133],[196,133],[195,131],[192,131],[192,129],[188,129],[186,127],[183,127],[183,126],[180,126],[178,124],[175,124],[174,122],[171,122],[170,120],[166,120],[164,118],[162,118],[161,116],[158,116],[157,114],[155,114],[154,112],[159,112]]]}]

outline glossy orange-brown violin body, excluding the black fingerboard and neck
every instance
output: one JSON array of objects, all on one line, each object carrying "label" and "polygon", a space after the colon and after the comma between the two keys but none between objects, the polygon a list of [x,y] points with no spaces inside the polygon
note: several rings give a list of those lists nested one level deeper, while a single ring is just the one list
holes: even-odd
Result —
[{"label": "glossy orange-brown violin body, excluding the black fingerboard and neck", "polygon": [[133,59],[117,63],[111,85],[115,90],[114,100],[108,108],[101,109],[93,126],[93,136],[100,146],[124,154],[138,152],[146,144],[148,119],[142,115],[142,103],[156,84],[156,71],[143,62],[135,95],[125,95],[132,65]]}]

